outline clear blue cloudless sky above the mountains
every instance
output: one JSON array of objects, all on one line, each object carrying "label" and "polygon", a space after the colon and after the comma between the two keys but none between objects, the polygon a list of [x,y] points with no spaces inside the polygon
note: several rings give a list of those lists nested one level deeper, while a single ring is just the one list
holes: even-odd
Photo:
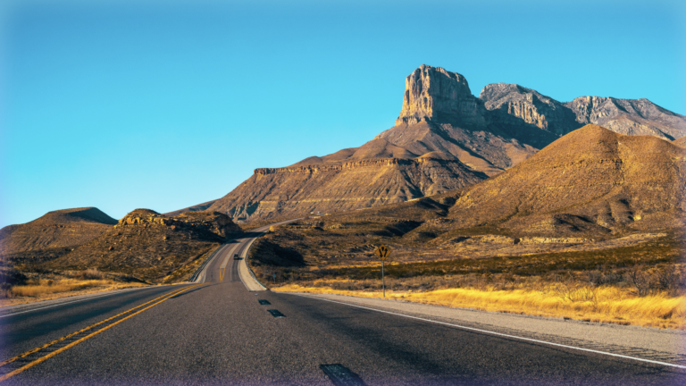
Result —
[{"label": "clear blue cloudless sky above the mountains", "polygon": [[405,77],[456,71],[686,114],[683,1],[0,2],[0,227],[222,197],[358,147]]}]

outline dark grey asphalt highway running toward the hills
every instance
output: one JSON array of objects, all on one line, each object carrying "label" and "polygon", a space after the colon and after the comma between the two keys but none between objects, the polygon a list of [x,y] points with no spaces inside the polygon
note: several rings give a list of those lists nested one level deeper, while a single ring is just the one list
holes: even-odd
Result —
[{"label": "dark grey asphalt highway running toward the hills", "polygon": [[[464,331],[314,298],[248,291],[238,277],[240,262],[230,259],[222,282],[223,260],[218,254],[207,264],[204,283],[130,291],[0,317],[5,359],[163,292],[181,291],[138,307],[126,315],[144,311],[71,347],[54,350],[53,357],[4,383],[645,385],[686,380],[682,370],[663,365]],[[49,349],[54,348],[38,357]],[[29,356],[22,365],[35,360]],[[12,366],[0,366],[0,373],[20,368]]]}]

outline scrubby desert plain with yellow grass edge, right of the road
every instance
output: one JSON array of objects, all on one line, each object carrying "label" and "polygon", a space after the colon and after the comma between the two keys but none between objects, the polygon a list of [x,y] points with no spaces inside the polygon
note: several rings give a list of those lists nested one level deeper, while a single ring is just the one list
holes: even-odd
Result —
[{"label": "scrubby desert plain with yellow grass edge, right of the road", "polygon": [[[280,226],[255,242],[249,263],[273,290],[381,297],[381,264],[372,254],[386,244],[395,260],[386,265],[389,298],[686,328],[686,265],[679,232],[628,238],[631,242],[544,245],[536,247],[539,253],[531,248],[506,256],[492,256],[493,242],[483,242],[473,244],[473,253],[456,253],[436,242],[439,227],[431,234],[424,231],[422,225],[440,223],[438,201],[429,204],[427,210],[401,207],[397,212],[404,221],[347,214],[345,219],[325,216]],[[451,232],[460,234],[450,235],[453,239],[498,242],[498,237],[512,237],[494,226]]]}]

